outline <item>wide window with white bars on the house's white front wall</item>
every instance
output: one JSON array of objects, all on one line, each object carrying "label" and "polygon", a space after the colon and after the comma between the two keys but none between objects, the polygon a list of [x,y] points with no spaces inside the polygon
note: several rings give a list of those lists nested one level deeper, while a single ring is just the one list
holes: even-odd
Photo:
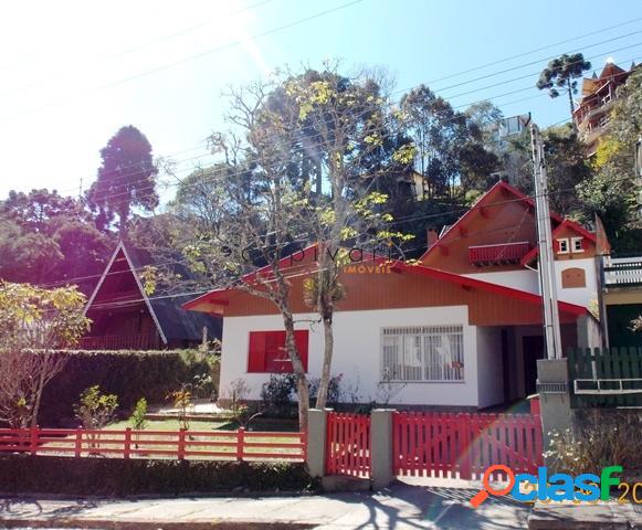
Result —
[{"label": "wide window with white bars on the house's white front wall", "polygon": [[463,381],[463,327],[383,328],[381,380]]}]

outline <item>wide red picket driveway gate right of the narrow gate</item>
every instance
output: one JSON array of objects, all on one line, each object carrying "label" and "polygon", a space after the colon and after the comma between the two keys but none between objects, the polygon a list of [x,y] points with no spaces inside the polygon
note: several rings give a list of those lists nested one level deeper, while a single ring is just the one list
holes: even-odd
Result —
[{"label": "wide red picket driveway gate right of the narrow gate", "polygon": [[392,432],[397,475],[471,479],[495,464],[515,473],[543,465],[538,415],[398,412]]}]

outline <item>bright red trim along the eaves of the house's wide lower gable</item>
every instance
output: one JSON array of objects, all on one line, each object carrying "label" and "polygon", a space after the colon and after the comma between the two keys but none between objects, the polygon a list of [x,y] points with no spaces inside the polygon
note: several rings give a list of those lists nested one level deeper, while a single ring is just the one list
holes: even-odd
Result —
[{"label": "bright red trim along the eaves of the house's wide lower gable", "polygon": [[[303,250],[304,253],[307,253],[309,250],[316,247],[315,245],[311,245],[307,248]],[[364,256],[367,256],[366,253],[364,253]],[[419,276],[424,276],[424,277],[429,277],[432,279],[436,279],[440,282],[446,282],[446,283],[451,283],[451,284],[455,284],[459,285],[461,287],[465,287],[465,288],[473,288],[473,289],[480,289],[480,290],[485,290],[487,293],[493,293],[499,296],[507,296],[511,298],[515,298],[528,304],[536,304],[536,305],[540,305],[541,304],[541,296],[533,294],[533,293],[528,293],[525,290],[519,290],[519,289],[515,289],[513,287],[506,287],[503,285],[498,285],[498,284],[492,284],[488,282],[483,282],[481,279],[475,279],[475,278],[471,278],[467,276],[462,276],[459,274],[454,274],[454,273],[449,273],[445,271],[438,271],[435,268],[431,268],[431,267],[427,267],[424,265],[409,265],[406,262],[402,261],[394,261],[394,262],[390,262],[389,259],[385,258],[385,257],[375,257],[372,255],[368,256],[368,259],[372,259],[375,263],[382,265],[382,264],[388,264],[389,266],[391,266],[391,268],[400,274],[413,274],[413,275],[419,275]],[[286,256],[284,258],[282,258],[280,261],[280,266],[282,266],[284,268],[284,271],[287,269],[286,265],[287,263],[291,261],[291,256]],[[296,266],[296,265],[295,265]],[[292,265],[291,265],[292,267]],[[241,278],[242,282],[248,283],[248,284],[253,284],[256,279],[257,275],[267,275],[271,273],[271,267],[263,267],[254,273],[251,274],[246,274],[245,276],[243,276]],[[308,271],[309,273],[312,273],[313,271]],[[198,298],[194,298],[193,300],[190,300],[186,304],[183,304],[183,308],[185,309],[190,309],[190,310],[202,310],[202,309],[197,309],[197,307],[199,305],[202,304],[208,304],[211,306],[219,306],[221,309],[223,307],[225,307],[227,305],[229,305],[229,301],[231,299],[231,297],[234,295],[234,293],[238,293],[238,289],[235,289],[234,287],[225,287],[225,288],[221,288],[221,289],[214,289],[211,290],[210,293],[199,296]],[[581,306],[577,306],[575,304],[569,304],[567,301],[559,301],[559,309],[560,311],[573,315],[573,316],[580,316],[580,315],[586,315],[587,314],[587,308],[586,307],[581,307]],[[208,312],[210,311],[210,309],[208,309]],[[215,311],[212,311],[215,312]]]}]

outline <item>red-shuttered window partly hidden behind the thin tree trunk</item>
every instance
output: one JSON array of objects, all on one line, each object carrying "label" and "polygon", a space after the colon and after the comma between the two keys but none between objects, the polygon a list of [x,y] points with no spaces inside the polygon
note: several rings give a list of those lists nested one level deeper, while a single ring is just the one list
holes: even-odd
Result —
[{"label": "red-shuttered window partly hidden behind the thin tree trunk", "polygon": [[[307,372],[308,331],[294,332],[294,340]],[[291,373],[292,361],[285,351],[285,331],[251,331],[248,352],[248,372]]]}]

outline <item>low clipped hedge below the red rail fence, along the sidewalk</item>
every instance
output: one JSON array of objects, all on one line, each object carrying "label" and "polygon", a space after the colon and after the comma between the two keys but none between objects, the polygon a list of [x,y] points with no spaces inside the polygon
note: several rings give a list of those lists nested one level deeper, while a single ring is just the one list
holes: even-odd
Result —
[{"label": "low clipped hedge below the red rail fence, along the sidewalk", "polygon": [[241,491],[304,491],[315,481],[303,463],[246,463],[0,456],[0,495],[123,497]]}]

